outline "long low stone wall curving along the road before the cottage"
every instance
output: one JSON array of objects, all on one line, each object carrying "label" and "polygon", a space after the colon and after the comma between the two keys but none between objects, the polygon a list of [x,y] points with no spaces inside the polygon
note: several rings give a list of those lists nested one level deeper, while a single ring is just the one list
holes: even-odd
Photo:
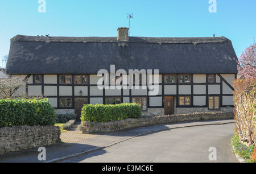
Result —
[{"label": "long low stone wall curving along the road before the cottage", "polygon": [[112,132],[135,127],[162,125],[178,122],[193,122],[203,120],[234,119],[234,113],[192,113],[179,115],[163,115],[156,117],[129,118],[113,122],[82,122],[82,133]]}]

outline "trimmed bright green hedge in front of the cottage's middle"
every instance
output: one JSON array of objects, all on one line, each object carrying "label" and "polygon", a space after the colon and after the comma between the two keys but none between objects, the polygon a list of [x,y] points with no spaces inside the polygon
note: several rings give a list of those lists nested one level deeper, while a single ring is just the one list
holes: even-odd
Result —
[{"label": "trimmed bright green hedge in front of the cottage's middle", "polygon": [[89,104],[84,105],[81,111],[81,122],[109,122],[127,118],[141,118],[141,106],[137,103]]}]

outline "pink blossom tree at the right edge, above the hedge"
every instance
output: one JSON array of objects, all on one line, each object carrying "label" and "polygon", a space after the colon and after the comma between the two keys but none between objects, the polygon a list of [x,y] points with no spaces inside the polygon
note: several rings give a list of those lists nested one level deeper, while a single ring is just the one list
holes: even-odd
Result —
[{"label": "pink blossom tree at the right edge, above the hedge", "polygon": [[256,43],[243,51],[238,60],[238,75],[242,78],[256,77]]}]

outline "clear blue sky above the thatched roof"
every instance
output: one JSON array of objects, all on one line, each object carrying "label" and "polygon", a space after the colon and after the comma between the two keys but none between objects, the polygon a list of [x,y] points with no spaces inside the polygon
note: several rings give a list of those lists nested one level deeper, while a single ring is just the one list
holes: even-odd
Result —
[{"label": "clear blue sky above the thatched roof", "polygon": [[117,36],[128,27],[130,36],[212,37],[232,40],[240,57],[256,39],[255,0],[216,0],[217,13],[209,13],[209,0],[0,0],[0,66],[15,35]]}]

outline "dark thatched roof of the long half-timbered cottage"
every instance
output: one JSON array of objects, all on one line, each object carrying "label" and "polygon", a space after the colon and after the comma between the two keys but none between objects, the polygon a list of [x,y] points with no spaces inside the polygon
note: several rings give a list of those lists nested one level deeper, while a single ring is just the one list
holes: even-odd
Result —
[{"label": "dark thatched roof of the long half-timbered cottage", "polygon": [[[159,73],[237,73],[237,56],[225,37],[39,37],[11,39],[9,74],[97,74],[100,69],[159,69]],[[154,71],[153,71],[154,72]]]}]

